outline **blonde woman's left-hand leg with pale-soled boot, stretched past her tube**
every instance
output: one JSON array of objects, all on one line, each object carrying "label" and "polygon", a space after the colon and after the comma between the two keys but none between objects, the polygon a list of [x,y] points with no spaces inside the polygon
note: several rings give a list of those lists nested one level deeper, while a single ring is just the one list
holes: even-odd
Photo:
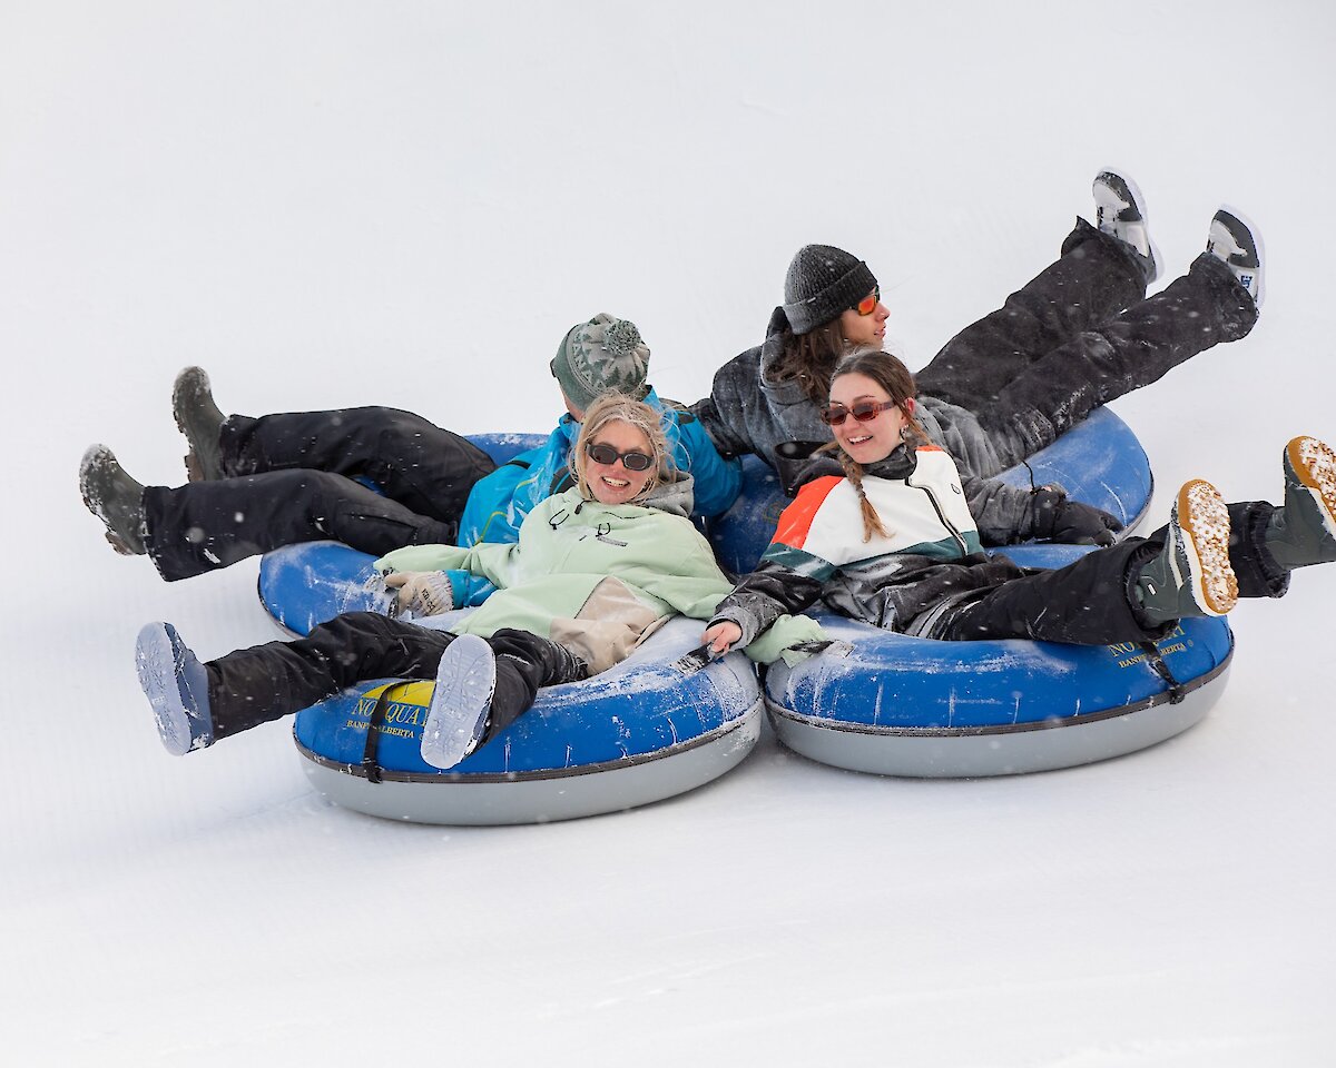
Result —
[{"label": "blonde woman's left-hand leg with pale-soled boot, stretched past her tube", "polygon": [[454,639],[442,630],[349,613],[294,642],[200,663],[171,623],[139,633],[135,662],[167,750],[203,749],[374,678],[430,678]]}]

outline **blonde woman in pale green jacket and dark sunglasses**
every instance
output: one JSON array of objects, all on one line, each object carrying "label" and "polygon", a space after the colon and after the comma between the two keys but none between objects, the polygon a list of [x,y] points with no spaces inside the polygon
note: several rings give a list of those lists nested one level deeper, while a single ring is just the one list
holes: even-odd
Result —
[{"label": "blonde woman in pale green jacket and dark sunglasses", "polygon": [[[493,582],[497,593],[453,631],[351,613],[299,641],[202,663],[170,623],[146,626],[139,680],[168,752],[202,749],[363,680],[434,677],[422,757],[450,768],[541,686],[607,670],[672,615],[708,619],[732,583],[687,519],[691,477],[673,467],[659,414],[619,394],[597,399],[572,473],[576,485],[541,501],[516,543],[410,546],[377,561],[401,614],[448,606],[448,570]],[[779,621],[748,651],[770,662],[818,639],[812,619]]]}]

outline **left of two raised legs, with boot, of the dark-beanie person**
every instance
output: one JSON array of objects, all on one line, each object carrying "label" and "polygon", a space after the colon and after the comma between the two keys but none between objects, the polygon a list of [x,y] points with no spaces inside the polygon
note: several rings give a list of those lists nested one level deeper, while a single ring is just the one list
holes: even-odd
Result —
[{"label": "left of two raised legs, with boot, of the dark-beanie person", "polygon": [[1100,228],[1077,219],[1055,263],[915,375],[922,394],[977,411],[1027,366],[1146,295],[1157,267],[1136,184],[1101,172],[1096,204]]}]

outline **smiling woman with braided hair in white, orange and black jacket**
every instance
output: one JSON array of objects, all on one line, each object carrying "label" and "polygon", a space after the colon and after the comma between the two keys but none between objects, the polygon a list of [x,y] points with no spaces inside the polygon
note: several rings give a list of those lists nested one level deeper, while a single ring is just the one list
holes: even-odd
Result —
[{"label": "smiling woman with braided hair in white, orange and black jacket", "polygon": [[[1180,618],[1221,615],[1238,597],[1281,597],[1296,567],[1336,561],[1336,453],[1285,449],[1285,502],[1225,505],[1209,482],[1177,494],[1166,527],[1113,545],[1112,517],[1050,489],[962,477],[916,421],[914,378],[895,356],[854,352],[822,413],[835,441],[803,471],[796,499],[752,574],[705,630],[716,651],[823,602],[923,638],[1158,641]],[[1022,570],[986,545],[1096,542],[1057,570]]]}]

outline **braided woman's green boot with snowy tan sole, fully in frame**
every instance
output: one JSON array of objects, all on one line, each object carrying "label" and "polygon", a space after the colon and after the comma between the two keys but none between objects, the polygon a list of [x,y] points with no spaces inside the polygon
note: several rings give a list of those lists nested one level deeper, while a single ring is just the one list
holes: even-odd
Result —
[{"label": "braided woman's green boot with snowy tan sole, fully in frame", "polygon": [[1229,563],[1229,509],[1200,478],[1178,490],[1165,545],[1141,567],[1132,597],[1156,623],[1189,615],[1224,615],[1238,602]]}]

